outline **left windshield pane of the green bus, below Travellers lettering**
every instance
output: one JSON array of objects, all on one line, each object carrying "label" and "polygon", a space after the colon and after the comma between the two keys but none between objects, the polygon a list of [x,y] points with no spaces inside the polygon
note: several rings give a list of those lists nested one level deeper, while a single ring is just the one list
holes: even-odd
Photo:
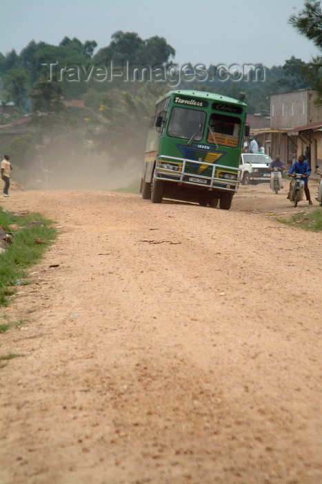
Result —
[{"label": "left windshield pane of the green bus, below Travellers lettering", "polygon": [[168,126],[168,136],[187,140],[190,140],[190,138],[194,136],[194,140],[200,141],[203,137],[204,128],[204,111],[179,108],[177,106],[172,108]]}]

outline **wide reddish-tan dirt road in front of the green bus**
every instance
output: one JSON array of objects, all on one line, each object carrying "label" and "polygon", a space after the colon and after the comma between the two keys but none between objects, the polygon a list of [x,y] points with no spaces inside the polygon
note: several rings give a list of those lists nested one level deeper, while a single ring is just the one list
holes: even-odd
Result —
[{"label": "wide reddish-tan dirt road in front of the green bus", "polygon": [[0,311],[1,484],[322,483],[321,234],[285,193],[3,201],[61,228]]}]

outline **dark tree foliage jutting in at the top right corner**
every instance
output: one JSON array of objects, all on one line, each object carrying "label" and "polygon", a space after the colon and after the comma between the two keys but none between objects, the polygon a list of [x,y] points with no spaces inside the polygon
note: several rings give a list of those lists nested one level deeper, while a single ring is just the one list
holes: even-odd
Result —
[{"label": "dark tree foliage jutting in at the top right corner", "polygon": [[[305,1],[299,15],[292,15],[290,24],[312,40],[322,52],[322,10],[319,1]],[[322,104],[322,56],[312,57],[308,68],[308,80],[318,93],[317,104]]]}]

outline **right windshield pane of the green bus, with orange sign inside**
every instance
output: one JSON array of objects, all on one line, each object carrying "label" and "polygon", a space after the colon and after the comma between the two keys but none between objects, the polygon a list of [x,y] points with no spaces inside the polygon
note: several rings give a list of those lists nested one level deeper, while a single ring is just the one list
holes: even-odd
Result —
[{"label": "right windshield pane of the green bus, with orange sign inside", "polygon": [[212,113],[209,119],[208,138],[209,143],[237,147],[241,120],[235,116]]}]

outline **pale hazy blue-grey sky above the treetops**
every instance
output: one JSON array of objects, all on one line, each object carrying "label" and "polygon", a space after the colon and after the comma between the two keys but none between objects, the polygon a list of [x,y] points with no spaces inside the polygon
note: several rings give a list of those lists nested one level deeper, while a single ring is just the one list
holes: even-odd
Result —
[{"label": "pale hazy blue-grey sky above the treetops", "polygon": [[63,37],[108,46],[117,30],[164,37],[174,62],[281,66],[309,62],[319,50],[288,24],[304,0],[0,0],[0,52],[19,54],[31,40]]}]

